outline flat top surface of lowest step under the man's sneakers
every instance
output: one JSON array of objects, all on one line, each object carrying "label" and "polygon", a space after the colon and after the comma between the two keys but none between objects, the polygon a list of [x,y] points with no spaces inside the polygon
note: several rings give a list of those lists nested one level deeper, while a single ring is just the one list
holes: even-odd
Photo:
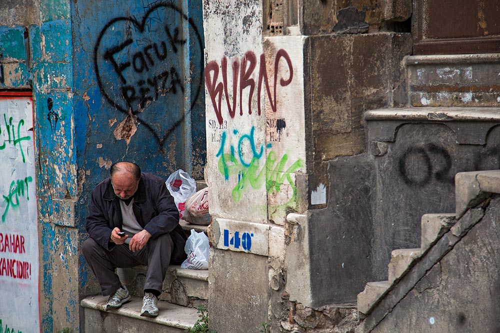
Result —
[{"label": "flat top surface of lowest step under the man's sneakers", "polygon": [[[80,305],[83,308],[104,312],[104,305],[107,299],[107,296],[90,296],[81,300]],[[164,301],[158,301],[159,313],[156,318],[141,317],[141,307],[142,299],[132,297],[130,302],[125,303],[116,310],[110,310],[108,313],[169,326],[180,330],[189,330],[199,319],[197,309],[185,308]]]}]

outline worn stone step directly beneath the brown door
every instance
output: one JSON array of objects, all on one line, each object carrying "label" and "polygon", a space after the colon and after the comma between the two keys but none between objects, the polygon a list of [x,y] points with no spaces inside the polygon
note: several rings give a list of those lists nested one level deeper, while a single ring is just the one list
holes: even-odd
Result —
[{"label": "worn stone step directly beneath the brown door", "polygon": [[412,106],[498,105],[498,53],[412,55],[404,64]]}]

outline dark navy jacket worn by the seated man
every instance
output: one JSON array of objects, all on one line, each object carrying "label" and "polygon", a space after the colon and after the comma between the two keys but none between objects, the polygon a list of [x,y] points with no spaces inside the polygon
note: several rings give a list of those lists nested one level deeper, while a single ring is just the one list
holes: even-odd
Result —
[{"label": "dark navy jacket worn by the seated man", "polygon": [[[104,179],[92,191],[86,230],[90,237],[107,251],[116,244],[109,241],[114,227],[122,229],[120,200],[115,194],[110,178]],[[185,258],[184,245],[187,239],[179,225],[179,212],[165,182],[150,173],[142,173],[134,194],[133,213],[139,225],[151,237],[170,233],[174,249],[170,259],[172,264],[180,264]]]}]

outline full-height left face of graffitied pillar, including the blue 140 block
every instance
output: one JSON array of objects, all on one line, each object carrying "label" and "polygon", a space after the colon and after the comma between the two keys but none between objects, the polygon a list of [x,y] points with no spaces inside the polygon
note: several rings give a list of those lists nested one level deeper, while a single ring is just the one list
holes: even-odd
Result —
[{"label": "full-height left face of graffitied pillar, including the blue 140 block", "polygon": [[267,318],[266,178],[259,162],[267,155],[257,85],[265,68],[262,8],[260,1],[229,2],[203,3],[206,174],[217,237],[208,308],[211,329],[251,332]]}]

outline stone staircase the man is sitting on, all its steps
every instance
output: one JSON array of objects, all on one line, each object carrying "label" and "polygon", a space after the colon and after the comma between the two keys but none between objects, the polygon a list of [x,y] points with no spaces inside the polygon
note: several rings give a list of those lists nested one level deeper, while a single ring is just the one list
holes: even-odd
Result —
[{"label": "stone staircase the man is sitting on, all its steps", "polygon": [[[198,190],[206,187],[197,181]],[[207,226],[194,225],[181,220],[181,227],[189,236],[190,230],[207,233]],[[80,302],[84,309],[85,333],[180,333],[191,329],[198,318],[197,307],[208,306],[208,270],[189,270],[170,266],[158,298],[159,314],[156,318],[140,317],[142,286],[146,266],[117,269],[116,273],[127,287],[132,299],[116,310],[104,312],[107,297],[91,296]]]}]

